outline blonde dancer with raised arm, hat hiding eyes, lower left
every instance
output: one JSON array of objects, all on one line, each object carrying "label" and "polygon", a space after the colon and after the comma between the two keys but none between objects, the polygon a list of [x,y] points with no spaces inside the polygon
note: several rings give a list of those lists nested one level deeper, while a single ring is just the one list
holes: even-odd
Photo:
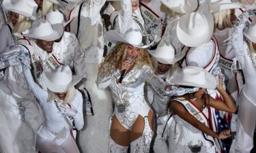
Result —
[{"label": "blonde dancer with raised arm, hat hiding eyes, lower left", "polygon": [[81,80],[80,76],[72,76],[68,66],[60,66],[51,73],[45,72],[44,81],[47,90],[38,86],[29,70],[30,58],[23,58],[23,72],[35,97],[38,98],[44,110],[44,124],[36,137],[36,148],[42,153],[79,153],[76,142],[70,134],[74,126],[77,130],[83,128],[83,97],[74,84]]}]

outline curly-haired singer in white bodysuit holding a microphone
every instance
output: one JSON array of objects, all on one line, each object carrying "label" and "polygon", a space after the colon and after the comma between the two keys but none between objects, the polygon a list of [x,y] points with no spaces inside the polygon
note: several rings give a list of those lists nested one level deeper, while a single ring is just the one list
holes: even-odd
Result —
[{"label": "curly-haired singer in white bodysuit holding a microphone", "polygon": [[[153,135],[153,112],[145,101],[145,81],[156,88],[165,88],[165,82],[152,71],[151,61],[138,30],[124,36],[108,31],[106,37],[117,44],[103,61],[97,78],[98,88],[111,88],[115,111],[111,123],[109,152],[149,152]],[[126,69],[126,70],[125,70]],[[122,71],[122,75],[121,75]],[[124,74],[124,72],[126,72]]]}]

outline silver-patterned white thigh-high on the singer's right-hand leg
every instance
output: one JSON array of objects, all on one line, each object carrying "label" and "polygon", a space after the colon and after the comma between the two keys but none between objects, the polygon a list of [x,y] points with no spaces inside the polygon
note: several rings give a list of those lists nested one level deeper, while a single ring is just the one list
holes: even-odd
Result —
[{"label": "silver-patterned white thigh-high on the singer's right-hand leg", "polygon": [[138,139],[130,143],[130,153],[147,153],[150,152],[150,143],[153,137],[153,131],[150,129],[150,124],[147,117],[144,117],[145,128]]}]

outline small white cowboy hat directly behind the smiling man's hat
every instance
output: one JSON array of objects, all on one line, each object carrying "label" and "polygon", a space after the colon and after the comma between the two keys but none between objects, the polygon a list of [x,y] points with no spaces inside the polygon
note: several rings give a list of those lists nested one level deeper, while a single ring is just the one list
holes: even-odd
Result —
[{"label": "small white cowboy hat directly behind the smiling man's hat", "polygon": [[72,19],[65,21],[63,14],[59,12],[59,10],[50,10],[45,17],[45,20],[47,20],[51,24],[60,23],[63,25],[63,27],[65,27],[68,23],[70,23]]}]

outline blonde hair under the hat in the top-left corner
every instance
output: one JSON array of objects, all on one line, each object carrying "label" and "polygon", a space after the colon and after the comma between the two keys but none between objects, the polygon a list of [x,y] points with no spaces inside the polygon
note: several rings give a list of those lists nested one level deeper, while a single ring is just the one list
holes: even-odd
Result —
[{"label": "blonde hair under the hat in the top-left corner", "polygon": [[[18,14],[18,22],[12,29],[12,33],[21,33],[27,29],[29,29],[32,25],[33,20]],[[8,23],[11,23],[10,18],[8,18]]]}]

